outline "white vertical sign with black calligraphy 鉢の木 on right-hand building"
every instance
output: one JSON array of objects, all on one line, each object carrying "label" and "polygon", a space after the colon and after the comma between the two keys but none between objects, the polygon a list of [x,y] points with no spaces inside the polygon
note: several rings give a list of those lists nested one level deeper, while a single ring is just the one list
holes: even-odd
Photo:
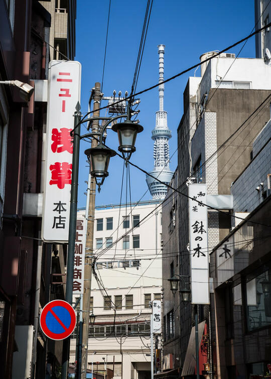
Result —
[{"label": "white vertical sign with black calligraphy \u9262\u306e\u6728 on right-hand building", "polygon": [[[206,184],[190,184],[189,245],[191,268],[191,303],[209,304],[209,254]],[[196,201],[197,200],[197,201]]]}]

